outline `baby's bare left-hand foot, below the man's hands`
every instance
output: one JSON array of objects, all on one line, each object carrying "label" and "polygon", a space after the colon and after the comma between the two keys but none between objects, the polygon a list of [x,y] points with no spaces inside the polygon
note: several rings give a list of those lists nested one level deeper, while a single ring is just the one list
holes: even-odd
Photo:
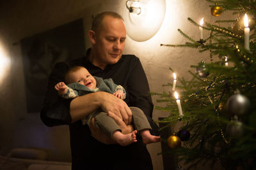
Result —
[{"label": "baby's bare left-hand foot, below the man's hands", "polygon": [[120,131],[115,131],[112,134],[112,139],[116,141],[119,145],[127,146],[137,141],[136,133],[136,130],[129,134],[122,134],[122,132]]}]

